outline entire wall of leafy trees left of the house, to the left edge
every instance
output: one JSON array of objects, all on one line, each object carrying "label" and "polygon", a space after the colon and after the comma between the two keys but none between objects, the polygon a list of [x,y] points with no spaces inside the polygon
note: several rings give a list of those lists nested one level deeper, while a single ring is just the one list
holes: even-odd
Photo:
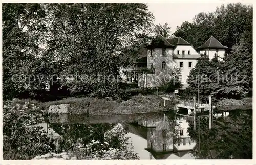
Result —
[{"label": "entire wall of leafy trees left of the house, to the left edge", "polygon": [[146,4],[3,4],[4,98],[57,80],[71,93],[125,97],[119,67],[137,53],[123,52],[143,42],[152,19]]}]

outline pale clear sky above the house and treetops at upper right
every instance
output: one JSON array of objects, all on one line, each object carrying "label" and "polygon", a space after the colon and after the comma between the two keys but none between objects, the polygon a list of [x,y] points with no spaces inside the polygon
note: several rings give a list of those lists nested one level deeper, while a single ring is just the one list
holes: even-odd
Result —
[{"label": "pale clear sky above the house and treetops at upper right", "polygon": [[[177,26],[181,26],[184,21],[192,21],[200,12],[214,12],[222,4],[230,2],[212,2],[212,3],[147,3],[148,10],[153,12],[156,24],[168,23],[171,27],[171,33],[174,33]],[[246,2],[244,5],[252,5]]]}]

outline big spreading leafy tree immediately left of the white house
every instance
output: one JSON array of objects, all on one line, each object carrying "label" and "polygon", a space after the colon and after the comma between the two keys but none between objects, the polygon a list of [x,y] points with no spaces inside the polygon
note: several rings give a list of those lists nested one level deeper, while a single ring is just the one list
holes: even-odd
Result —
[{"label": "big spreading leafy tree immediately left of the white house", "polygon": [[[152,15],[147,6],[51,4],[48,9],[52,12],[52,33],[57,36],[51,40],[58,45],[53,51],[66,59],[67,67],[61,73],[78,75],[75,82],[63,79],[62,85],[67,85],[72,93],[90,93],[99,97],[122,95],[121,86],[116,81],[119,66],[128,65],[135,56],[125,56],[122,52],[127,46],[137,45],[144,37],[142,31],[150,26]],[[81,82],[81,75],[102,76]],[[108,81],[109,75],[112,79]]]}]

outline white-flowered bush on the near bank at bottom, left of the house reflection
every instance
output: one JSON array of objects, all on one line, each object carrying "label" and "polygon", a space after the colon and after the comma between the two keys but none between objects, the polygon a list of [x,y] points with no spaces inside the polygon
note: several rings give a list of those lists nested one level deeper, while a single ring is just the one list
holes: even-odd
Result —
[{"label": "white-flowered bush on the near bank at bottom, left of the house reflection", "polygon": [[[62,127],[62,126],[60,126]],[[73,128],[69,130],[71,132],[76,131]],[[82,131],[82,130],[78,130]],[[95,131],[95,130],[94,130]],[[92,132],[94,132],[92,131]],[[66,134],[67,130],[64,134]],[[99,132],[94,132],[99,133]],[[104,132],[100,132],[104,133]],[[60,154],[49,153],[42,156],[36,156],[35,159],[103,159],[103,160],[115,160],[115,159],[139,159],[136,153],[134,153],[132,143],[128,142],[129,137],[126,137],[127,131],[120,125],[116,125],[113,129],[110,129],[104,133],[104,139],[91,140],[90,143],[84,143],[76,134],[69,134],[73,143],[66,143],[64,152]],[[69,139],[69,137],[66,137]],[[95,136],[97,139],[97,136]]]}]

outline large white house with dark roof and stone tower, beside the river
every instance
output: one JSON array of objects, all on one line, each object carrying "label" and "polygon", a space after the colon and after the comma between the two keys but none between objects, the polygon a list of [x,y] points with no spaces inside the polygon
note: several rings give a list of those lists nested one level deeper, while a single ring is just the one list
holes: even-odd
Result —
[{"label": "large white house with dark roof and stone tower, beside the river", "polygon": [[141,75],[139,87],[156,88],[162,86],[163,79],[168,78],[174,67],[181,69],[182,88],[188,86],[187,76],[195,67],[197,59],[201,57],[190,43],[181,37],[166,40],[162,35],[157,35],[151,45],[146,48],[147,68],[154,68],[155,73]]}]

